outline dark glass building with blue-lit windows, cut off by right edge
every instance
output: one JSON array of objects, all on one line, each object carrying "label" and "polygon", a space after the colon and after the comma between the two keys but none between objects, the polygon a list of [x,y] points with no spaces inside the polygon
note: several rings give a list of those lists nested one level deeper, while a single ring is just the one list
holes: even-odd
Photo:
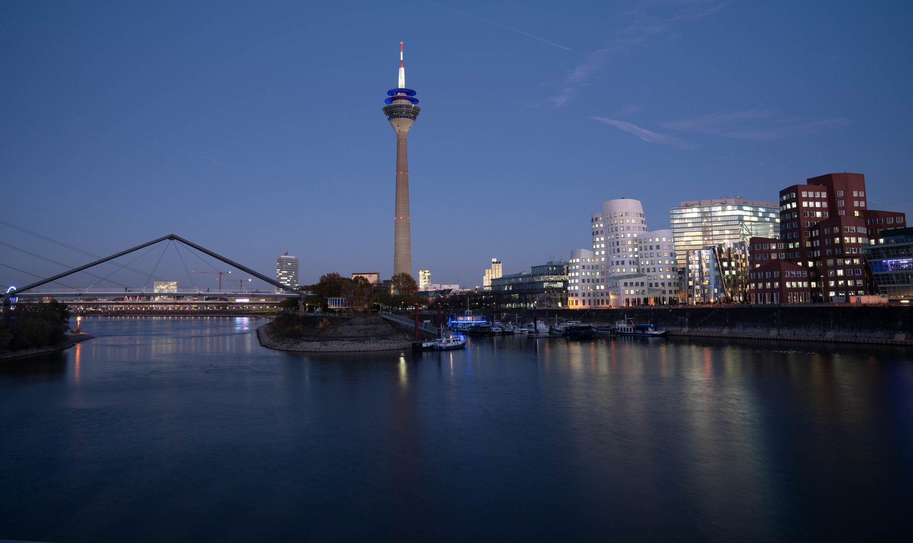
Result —
[{"label": "dark glass building with blue-lit windows, cut off by right edge", "polygon": [[881,231],[863,253],[872,266],[878,291],[888,299],[913,298],[913,228]]}]

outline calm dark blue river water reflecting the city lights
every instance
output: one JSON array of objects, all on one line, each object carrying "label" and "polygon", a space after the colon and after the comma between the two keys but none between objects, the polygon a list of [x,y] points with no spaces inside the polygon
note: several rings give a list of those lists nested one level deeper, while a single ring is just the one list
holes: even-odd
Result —
[{"label": "calm dark blue river water reflecting the city lights", "polygon": [[472,340],[282,353],[262,319],[83,319],[0,363],[0,539],[910,540],[887,347]]}]

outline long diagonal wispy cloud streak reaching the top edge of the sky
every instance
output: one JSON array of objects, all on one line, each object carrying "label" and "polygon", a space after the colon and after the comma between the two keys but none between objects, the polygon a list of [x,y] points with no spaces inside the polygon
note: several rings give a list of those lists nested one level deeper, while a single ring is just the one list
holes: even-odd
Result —
[{"label": "long diagonal wispy cloud streak reaching the top edge of the sky", "polygon": [[[621,15],[636,17],[635,21],[619,32],[609,45],[584,56],[583,62],[573,67],[564,78],[561,92],[548,101],[559,108],[566,105],[580,87],[603,70],[612,56],[630,54],[635,48],[648,45],[673,27],[717,13],[726,4],[727,2],[719,0],[658,0],[631,6]],[[672,6],[677,11],[672,15],[652,15],[652,8],[657,6],[663,11]]]}]

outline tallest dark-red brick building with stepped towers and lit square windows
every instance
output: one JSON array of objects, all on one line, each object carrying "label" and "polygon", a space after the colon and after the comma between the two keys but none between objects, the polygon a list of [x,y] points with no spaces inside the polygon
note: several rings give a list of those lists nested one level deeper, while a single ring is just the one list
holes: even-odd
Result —
[{"label": "tallest dark-red brick building with stepped towers and lit square windows", "polygon": [[784,253],[780,258],[814,271],[809,277],[818,280],[819,292],[813,301],[877,292],[862,248],[869,244],[870,229],[877,230],[877,220],[887,227],[888,217],[893,225],[898,218],[906,225],[907,218],[903,213],[868,209],[866,176],[829,173],[807,179],[805,185],[781,190],[780,203],[778,246],[782,241]]}]

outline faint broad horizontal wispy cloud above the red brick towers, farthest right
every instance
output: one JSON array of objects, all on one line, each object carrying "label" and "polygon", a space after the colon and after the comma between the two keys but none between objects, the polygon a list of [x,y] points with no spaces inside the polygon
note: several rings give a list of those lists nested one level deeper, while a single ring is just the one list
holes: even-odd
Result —
[{"label": "faint broad horizontal wispy cloud above the red brick towers, farthest right", "polygon": [[776,111],[750,109],[676,120],[662,123],[662,126],[670,130],[700,132],[725,138],[781,139],[808,136],[851,124],[846,118],[808,120],[783,117]]}]

